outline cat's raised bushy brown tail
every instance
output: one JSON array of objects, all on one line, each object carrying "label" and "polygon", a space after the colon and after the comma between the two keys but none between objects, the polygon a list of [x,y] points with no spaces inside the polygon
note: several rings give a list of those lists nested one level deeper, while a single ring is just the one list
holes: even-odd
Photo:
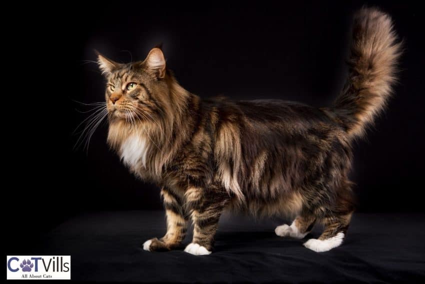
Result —
[{"label": "cat's raised bushy brown tail", "polygon": [[355,14],[349,75],[333,105],[350,137],[361,136],[384,108],[400,54],[401,43],[387,14],[376,8],[362,8]]}]

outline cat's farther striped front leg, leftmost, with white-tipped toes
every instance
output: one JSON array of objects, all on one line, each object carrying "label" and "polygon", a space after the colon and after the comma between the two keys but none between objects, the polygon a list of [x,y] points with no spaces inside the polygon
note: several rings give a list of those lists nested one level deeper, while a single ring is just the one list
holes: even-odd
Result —
[{"label": "cat's farther striped front leg, leftmost, with white-tipped toes", "polygon": [[187,217],[185,217],[181,198],[173,191],[161,189],[167,219],[167,232],[158,238],[146,240],[143,249],[148,251],[168,251],[181,244],[187,230]]}]

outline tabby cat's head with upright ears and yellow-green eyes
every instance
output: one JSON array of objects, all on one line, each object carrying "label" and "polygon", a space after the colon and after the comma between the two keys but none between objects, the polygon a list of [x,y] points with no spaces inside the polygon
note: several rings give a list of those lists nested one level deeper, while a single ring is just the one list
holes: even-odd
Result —
[{"label": "tabby cat's head with upright ears and yellow-green eyes", "polygon": [[160,49],[152,49],[142,62],[119,64],[98,55],[98,63],[106,75],[110,120],[135,124],[160,117],[168,103],[165,60]]}]

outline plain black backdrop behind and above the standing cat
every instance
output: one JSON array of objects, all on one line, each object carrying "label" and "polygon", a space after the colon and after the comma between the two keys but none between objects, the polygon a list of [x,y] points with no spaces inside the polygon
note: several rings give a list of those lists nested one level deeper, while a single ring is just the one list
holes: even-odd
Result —
[{"label": "plain black backdrop behind and above the standing cat", "polygon": [[350,22],[363,4],[392,16],[405,52],[389,108],[367,139],[354,145],[357,210],[423,212],[425,46],[414,6],[146,2],[48,7],[54,12],[37,6],[19,12],[23,29],[3,23],[9,79],[2,84],[9,111],[3,112],[3,179],[10,184],[2,189],[3,224],[10,242],[83,211],[161,208],[159,189],[136,180],[108,149],[106,125],[94,133],[88,151],[73,149],[78,135],[72,132],[87,115],[73,100],[100,102],[104,96],[104,79],[86,62],[95,60],[93,49],[128,62],[163,43],[168,68],[201,97],[327,106],[343,85]]}]

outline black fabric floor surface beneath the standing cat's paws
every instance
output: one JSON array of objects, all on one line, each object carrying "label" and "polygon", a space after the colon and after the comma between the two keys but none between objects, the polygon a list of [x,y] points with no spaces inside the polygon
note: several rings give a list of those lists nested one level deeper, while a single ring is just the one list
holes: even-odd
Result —
[{"label": "black fabric floor surface beneath the standing cat's paws", "polygon": [[[70,254],[71,278],[109,281],[385,281],[425,280],[425,215],[353,216],[344,243],[316,253],[303,240],[274,234],[283,220],[225,215],[211,255],[148,252],[141,244],[165,232],[161,211],[87,213],[41,238],[38,254]],[[188,235],[184,245],[189,242]]]}]

